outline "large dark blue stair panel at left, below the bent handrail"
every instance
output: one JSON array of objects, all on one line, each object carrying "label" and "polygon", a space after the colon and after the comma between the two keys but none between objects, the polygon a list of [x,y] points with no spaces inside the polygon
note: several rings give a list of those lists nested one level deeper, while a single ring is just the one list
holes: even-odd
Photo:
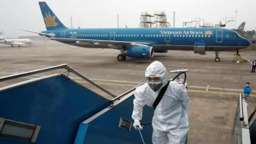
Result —
[{"label": "large dark blue stair panel at left, below the bent handrail", "polygon": [[[41,126],[36,143],[74,143],[79,124],[109,106],[97,93],[57,76],[0,92],[0,117]],[[0,143],[28,143],[0,139]]]}]

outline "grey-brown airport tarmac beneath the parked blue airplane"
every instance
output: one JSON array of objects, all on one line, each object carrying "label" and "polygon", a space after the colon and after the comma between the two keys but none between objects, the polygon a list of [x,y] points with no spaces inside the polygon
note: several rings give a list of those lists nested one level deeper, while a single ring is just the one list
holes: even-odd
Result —
[{"label": "grey-brown airport tarmac beneath the parked blue airplane", "polygon": [[[252,87],[248,110],[251,112],[255,106],[256,73],[251,73],[250,62],[231,62],[235,52],[220,52],[220,62],[214,61],[214,52],[199,55],[193,51],[169,51],[155,53],[151,60],[128,57],[126,61],[117,61],[119,53],[113,49],[86,49],[50,40],[36,41],[31,46],[0,45],[0,76],[66,63],[111,93],[119,95],[144,83],[145,70],[154,60],[161,61],[168,71],[188,69],[189,143],[230,143],[238,93],[242,92],[246,82],[250,82]],[[256,51],[239,53],[250,61],[256,58]],[[55,70],[1,82],[0,87],[63,72]],[[112,98],[77,76],[69,76],[104,97]],[[167,73],[167,76],[172,78],[175,74]]]}]

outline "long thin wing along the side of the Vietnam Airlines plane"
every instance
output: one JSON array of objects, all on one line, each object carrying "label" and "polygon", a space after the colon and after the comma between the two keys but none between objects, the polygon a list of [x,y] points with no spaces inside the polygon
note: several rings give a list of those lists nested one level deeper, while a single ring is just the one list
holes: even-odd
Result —
[{"label": "long thin wing along the side of the Vietnam Airlines plane", "polygon": [[105,41],[105,40],[97,40],[97,39],[78,39],[78,38],[50,38],[50,39],[58,42],[76,41],[76,43],[79,43],[79,44],[98,43],[102,45],[125,45],[125,44],[149,45],[149,43],[143,43],[143,42]]}]

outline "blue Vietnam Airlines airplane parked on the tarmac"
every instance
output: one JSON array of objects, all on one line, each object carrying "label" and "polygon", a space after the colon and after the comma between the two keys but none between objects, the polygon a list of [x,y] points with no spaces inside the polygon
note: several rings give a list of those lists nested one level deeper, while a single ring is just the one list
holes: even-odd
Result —
[{"label": "blue Vietnam Airlines airplane parked on the tarmac", "polygon": [[219,62],[220,51],[238,52],[250,45],[236,31],[224,28],[70,29],[63,25],[46,2],[38,3],[46,30],[39,33],[24,31],[79,47],[121,50],[121,54],[117,55],[118,61],[125,61],[126,57],[151,59],[154,53],[184,50],[199,54],[215,51],[215,61]]}]

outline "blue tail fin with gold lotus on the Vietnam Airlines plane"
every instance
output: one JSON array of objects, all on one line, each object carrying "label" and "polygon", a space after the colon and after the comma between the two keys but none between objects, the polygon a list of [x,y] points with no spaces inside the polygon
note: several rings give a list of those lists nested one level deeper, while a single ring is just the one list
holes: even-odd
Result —
[{"label": "blue tail fin with gold lotus on the Vietnam Airlines plane", "polygon": [[43,15],[46,30],[67,29],[67,27],[64,26],[62,22],[60,22],[58,17],[53,13],[46,2],[38,3]]}]

